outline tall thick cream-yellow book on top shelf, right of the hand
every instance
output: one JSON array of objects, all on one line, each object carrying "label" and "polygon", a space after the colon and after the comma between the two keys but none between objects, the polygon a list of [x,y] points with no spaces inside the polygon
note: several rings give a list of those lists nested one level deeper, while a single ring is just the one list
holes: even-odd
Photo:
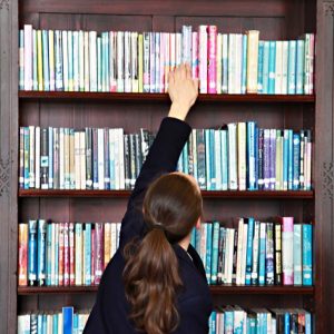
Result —
[{"label": "tall thick cream-yellow book on top shelf, right of the hand", "polygon": [[247,92],[257,92],[258,30],[247,31]]}]

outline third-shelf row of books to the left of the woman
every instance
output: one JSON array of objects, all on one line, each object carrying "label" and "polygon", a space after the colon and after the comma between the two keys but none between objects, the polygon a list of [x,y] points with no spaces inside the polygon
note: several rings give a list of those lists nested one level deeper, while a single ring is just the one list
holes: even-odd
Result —
[{"label": "third-shelf row of books to the left of the woman", "polygon": [[119,233],[120,223],[20,223],[18,285],[99,284]]}]

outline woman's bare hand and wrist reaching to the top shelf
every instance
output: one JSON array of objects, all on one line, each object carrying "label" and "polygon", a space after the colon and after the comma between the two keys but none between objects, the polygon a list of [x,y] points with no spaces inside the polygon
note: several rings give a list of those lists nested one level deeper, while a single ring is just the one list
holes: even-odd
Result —
[{"label": "woman's bare hand and wrist reaching to the top shelf", "polygon": [[198,96],[198,80],[191,79],[189,65],[180,65],[169,72],[168,94],[171,100],[168,117],[185,120]]}]

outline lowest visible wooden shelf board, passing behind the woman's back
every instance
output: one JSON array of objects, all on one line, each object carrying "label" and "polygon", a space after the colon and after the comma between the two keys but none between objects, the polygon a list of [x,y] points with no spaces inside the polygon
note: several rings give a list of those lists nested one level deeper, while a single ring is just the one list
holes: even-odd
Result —
[{"label": "lowest visible wooden shelf board, passing behind the woman's back", "polygon": [[[19,286],[18,295],[36,294],[86,294],[96,293],[97,285],[94,286]],[[213,295],[224,294],[265,294],[265,295],[313,295],[313,286],[236,286],[217,285],[210,286]]]}]

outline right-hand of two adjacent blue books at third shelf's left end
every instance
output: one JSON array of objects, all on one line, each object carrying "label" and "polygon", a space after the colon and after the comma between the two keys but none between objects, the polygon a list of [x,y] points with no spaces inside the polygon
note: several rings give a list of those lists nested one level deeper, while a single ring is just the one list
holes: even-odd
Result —
[{"label": "right-hand of two adjacent blue books at third shelf's left end", "polygon": [[38,262],[37,262],[37,281],[38,285],[46,284],[46,259],[47,259],[47,222],[38,220]]}]

